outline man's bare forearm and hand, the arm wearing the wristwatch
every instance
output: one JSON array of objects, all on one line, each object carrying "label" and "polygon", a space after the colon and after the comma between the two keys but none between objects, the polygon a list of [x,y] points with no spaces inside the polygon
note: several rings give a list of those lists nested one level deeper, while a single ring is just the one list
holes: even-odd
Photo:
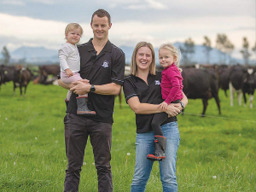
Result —
[{"label": "man's bare forearm and hand, the arm wearing the wristwatch", "polygon": [[[91,84],[84,84],[83,82],[76,81],[73,82],[75,86],[71,88],[74,93],[78,95],[84,95],[86,93],[90,92]],[[100,94],[100,95],[119,95],[119,92],[121,91],[121,85],[110,83],[110,84],[102,84],[102,85],[94,85],[95,91],[94,93]]]}]

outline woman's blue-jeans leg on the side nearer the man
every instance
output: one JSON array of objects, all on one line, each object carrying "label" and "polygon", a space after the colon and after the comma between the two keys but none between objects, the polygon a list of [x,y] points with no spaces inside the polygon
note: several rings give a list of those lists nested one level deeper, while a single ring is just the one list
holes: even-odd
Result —
[{"label": "woman's blue-jeans leg on the side nearer the man", "polygon": [[136,138],[136,165],[131,192],[144,192],[152,170],[153,161],[147,155],[154,152],[154,133],[138,133]]}]

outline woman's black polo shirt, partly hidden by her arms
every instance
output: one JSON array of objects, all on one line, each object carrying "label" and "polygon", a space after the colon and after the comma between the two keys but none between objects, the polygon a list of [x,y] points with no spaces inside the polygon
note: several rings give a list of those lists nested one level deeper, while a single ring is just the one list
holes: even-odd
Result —
[{"label": "woman's black polo shirt, partly hidden by her arms", "polygon": [[[148,84],[136,76],[128,76],[124,82],[124,92],[126,102],[133,96],[137,96],[142,103],[160,104],[164,100],[161,95],[161,73],[156,75],[148,74]],[[137,133],[152,131],[151,122],[153,114],[136,114]],[[176,117],[168,118],[162,125],[177,121]]]}]

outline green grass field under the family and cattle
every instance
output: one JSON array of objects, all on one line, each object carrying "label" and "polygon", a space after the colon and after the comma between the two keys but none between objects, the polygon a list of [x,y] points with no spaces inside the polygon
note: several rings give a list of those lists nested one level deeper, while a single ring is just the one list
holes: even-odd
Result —
[{"label": "green grass field under the family and cattle", "polygon": [[[62,191],[67,166],[64,144],[64,98],[67,91],[54,85],[29,84],[26,97],[13,84],[0,91],[0,191]],[[189,100],[178,116],[177,153],[179,191],[256,191],[256,102],[254,108],[230,107],[219,92],[222,115],[214,100],[201,118],[201,100]],[[123,101],[114,108],[113,189],[130,191],[135,163],[135,114]],[[193,114],[191,114],[193,113]],[[213,117],[214,116],[214,117]],[[130,155],[127,155],[130,153]],[[90,143],[85,150],[80,191],[97,191]],[[147,192],[161,191],[158,163]]]}]

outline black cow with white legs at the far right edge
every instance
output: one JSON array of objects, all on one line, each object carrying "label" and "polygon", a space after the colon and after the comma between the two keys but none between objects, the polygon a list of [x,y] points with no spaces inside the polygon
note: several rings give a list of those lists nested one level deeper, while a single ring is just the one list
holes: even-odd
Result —
[{"label": "black cow with white legs at the far right edge", "polygon": [[233,106],[234,92],[237,92],[238,104],[241,106],[241,94],[247,106],[246,94],[250,95],[250,108],[253,108],[255,90],[255,70],[252,67],[234,66],[230,69],[230,106]]}]

